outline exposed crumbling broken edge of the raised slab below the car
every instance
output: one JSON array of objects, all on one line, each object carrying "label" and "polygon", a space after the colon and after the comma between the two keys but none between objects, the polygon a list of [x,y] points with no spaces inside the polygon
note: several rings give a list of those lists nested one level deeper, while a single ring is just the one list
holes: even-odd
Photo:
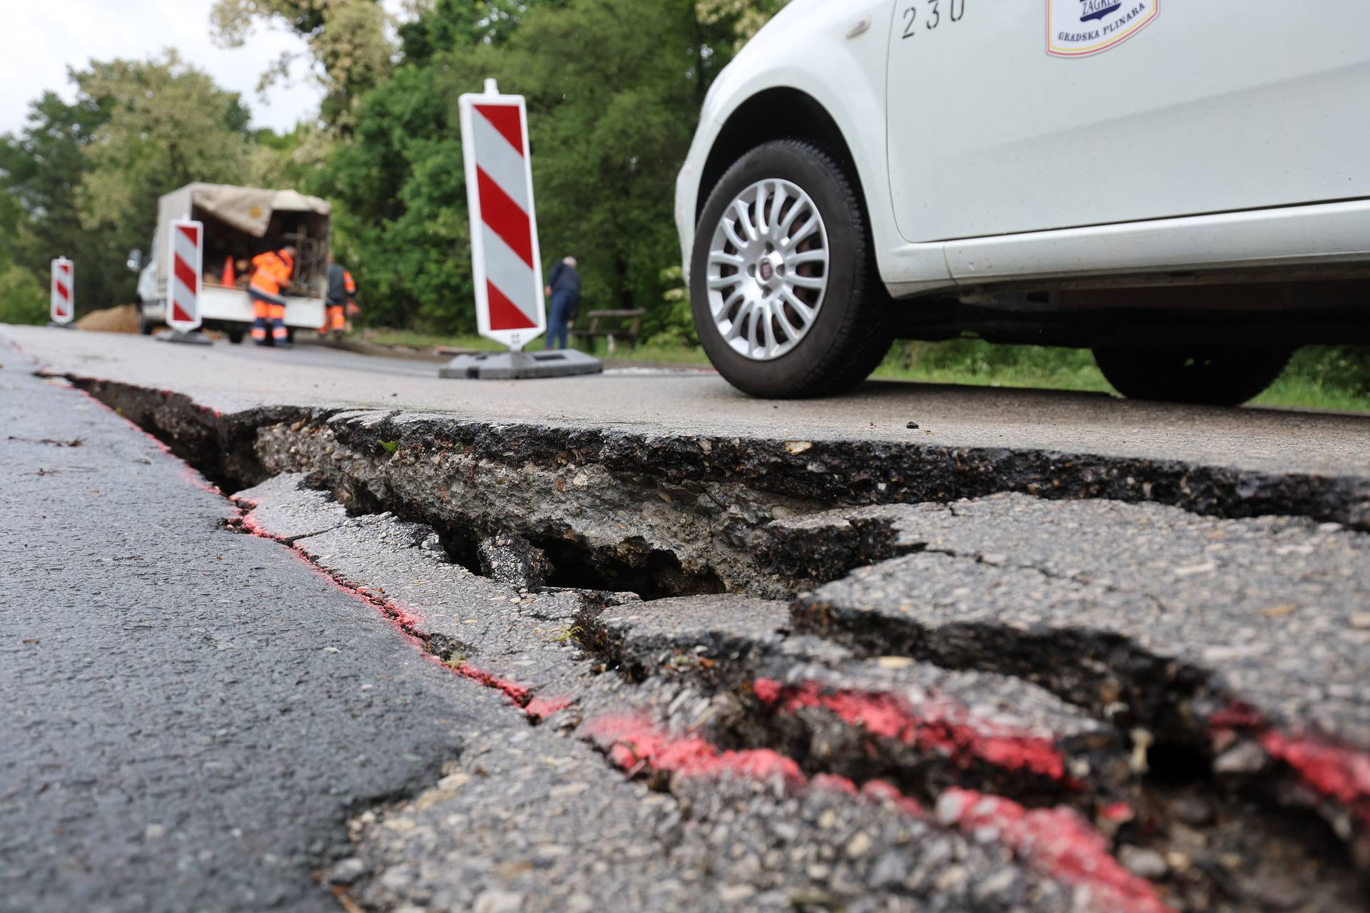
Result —
[{"label": "exposed crumbling broken edge of the raised slab below the car", "polygon": [[[495,424],[385,411],[273,407],[223,415],[173,391],[68,379],[225,490],[303,472],[348,509],[395,511],[464,539],[451,545],[473,565],[475,543],[507,531],[544,549],[556,567],[581,567],[596,580],[616,580],[644,595],[790,595],[806,584],[807,569],[786,567],[784,554],[759,554],[766,527],[838,505],[947,504],[1017,491],[1370,530],[1370,478],[1043,450]],[[825,557],[829,568],[833,560]]]}]

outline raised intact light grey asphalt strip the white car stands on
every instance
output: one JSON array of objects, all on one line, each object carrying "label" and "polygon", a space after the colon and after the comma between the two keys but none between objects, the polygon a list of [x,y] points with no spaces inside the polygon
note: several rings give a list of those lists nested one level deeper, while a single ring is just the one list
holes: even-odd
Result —
[{"label": "raised intact light grey asphalt strip the white car stands on", "polygon": [[[170,389],[227,412],[263,405],[441,411],[492,422],[910,446],[1026,448],[1363,476],[1370,417],[1129,402],[1103,394],[873,382],[830,400],[767,402],[708,371],[560,381],[440,381],[437,365],[321,346],[175,346],[145,337],[0,327],[49,371]],[[908,428],[914,422],[921,426]]]}]

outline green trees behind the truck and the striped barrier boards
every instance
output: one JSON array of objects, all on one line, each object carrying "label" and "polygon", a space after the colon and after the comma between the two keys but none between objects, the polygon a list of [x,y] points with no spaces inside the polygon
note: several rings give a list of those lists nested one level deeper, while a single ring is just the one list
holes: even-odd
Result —
[{"label": "green trees behind the truck and the striped barrier boards", "polygon": [[92,63],[71,74],[74,103],[45,96],[0,137],[16,203],[0,275],[38,281],[64,253],[84,308],[127,301],[123,257],[148,242],[159,194],[195,181],[295,188],[334,201],[334,246],[369,320],[469,331],[458,99],[496,77],[529,99],[544,259],[578,256],[588,307],[647,307],[648,335],[688,338],[675,174],[710,82],[784,3],[407,0],[392,23],[378,0],[215,0],[222,44],[264,27],[306,40],[327,90],[321,118],[252,133],[238,97],[174,55]]}]

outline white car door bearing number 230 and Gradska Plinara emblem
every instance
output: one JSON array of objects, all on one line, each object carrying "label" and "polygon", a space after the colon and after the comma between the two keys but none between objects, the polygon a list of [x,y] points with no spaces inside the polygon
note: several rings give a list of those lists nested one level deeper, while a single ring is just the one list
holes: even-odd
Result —
[{"label": "white car door bearing number 230 and Gradska Plinara emblem", "polygon": [[899,0],[900,234],[1370,197],[1370,3]]}]

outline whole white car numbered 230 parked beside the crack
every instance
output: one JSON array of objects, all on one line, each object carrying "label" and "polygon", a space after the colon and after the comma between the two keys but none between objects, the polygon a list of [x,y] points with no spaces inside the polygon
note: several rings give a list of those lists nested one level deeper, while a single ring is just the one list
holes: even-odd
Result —
[{"label": "whole white car numbered 230 parked beside the crack", "polygon": [[1367,34],[1365,0],[793,0],[680,175],[703,345],[767,397],[975,334],[1243,402],[1370,341]]}]

